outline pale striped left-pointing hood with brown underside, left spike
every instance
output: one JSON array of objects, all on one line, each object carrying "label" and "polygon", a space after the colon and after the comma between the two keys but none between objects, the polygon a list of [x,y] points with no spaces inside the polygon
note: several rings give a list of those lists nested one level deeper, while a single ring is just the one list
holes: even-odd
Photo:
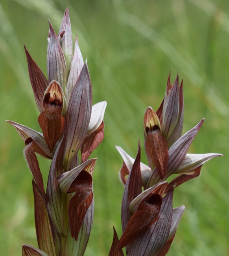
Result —
[{"label": "pale striped left-pointing hood with brown underside, left spike", "polygon": [[[55,150],[50,152],[46,141],[44,139],[43,134],[40,132],[36,132],[35,130],[32,130],[31,128],[28,128],[27,126],[24,126],[22,124],[18,124],[17,122],[13,121],[7,121],[10,124],[14,126],[14,128],[17,130],[18,134],[22,137],[24,141],[31,137],[33,139],[33,142],[35,142],[37,145],[33,145],[34,151],[38,154],[41,154],[41,156],[44,156],[46,158],[53,158]],[[54,147],[56,149],[56,147]]]}]

